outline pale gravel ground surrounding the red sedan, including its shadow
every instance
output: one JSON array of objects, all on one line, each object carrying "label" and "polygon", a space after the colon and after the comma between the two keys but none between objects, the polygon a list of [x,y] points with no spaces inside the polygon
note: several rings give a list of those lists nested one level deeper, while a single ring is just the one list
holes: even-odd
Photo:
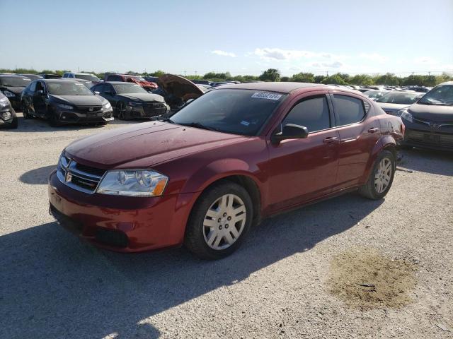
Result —
[{"label": "pale gravel ground surrounding the red sedan, including its shadow", "polygon": [[18,130],[0,130],[1,338],[452,338],[451,155],[408,151],[414,172],[396,172],[385,200],[348,194],[265,220],[222,261],[116,254],[52,220],[46,182],[65,145],[122,124],[18,115]]}]

